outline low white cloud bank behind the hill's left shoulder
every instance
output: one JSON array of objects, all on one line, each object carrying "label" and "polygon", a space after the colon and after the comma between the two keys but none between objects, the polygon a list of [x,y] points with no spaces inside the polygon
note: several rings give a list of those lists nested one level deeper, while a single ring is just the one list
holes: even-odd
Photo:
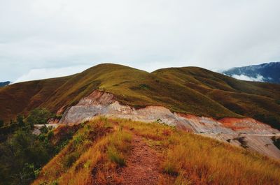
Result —
[{"label": "low white cloud bank behind the hill's left shoulder", "polygon": [[36,68],[31,69],[25,75],[19,77],[15,82],[26,82],[30,80],[41,80],[51,77],[62,77],[67,75],[73,75],[75,73],[80,73],[90,66],[70,66],[66,68]]}]

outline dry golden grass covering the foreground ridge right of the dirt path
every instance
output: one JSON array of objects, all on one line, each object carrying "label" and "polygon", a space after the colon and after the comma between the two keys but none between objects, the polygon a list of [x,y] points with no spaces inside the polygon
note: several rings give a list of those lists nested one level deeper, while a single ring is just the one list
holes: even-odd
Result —
[{"label": "dry golden grass covering the foreground ridge right of the dirt path", "polygon": [[160,146],[162,172],[174,177],[162,184],[280,184],[279,161],[162,124],[123,125]]}]

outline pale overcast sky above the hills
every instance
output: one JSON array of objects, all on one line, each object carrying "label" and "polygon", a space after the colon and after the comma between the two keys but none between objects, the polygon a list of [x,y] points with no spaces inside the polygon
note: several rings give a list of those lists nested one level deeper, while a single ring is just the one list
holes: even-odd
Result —
[{"label": "pale overcast sky above the hills", "polygon": [[102,63],[212,71],[280,61],[279,0],[0,0],[0,82]]}]

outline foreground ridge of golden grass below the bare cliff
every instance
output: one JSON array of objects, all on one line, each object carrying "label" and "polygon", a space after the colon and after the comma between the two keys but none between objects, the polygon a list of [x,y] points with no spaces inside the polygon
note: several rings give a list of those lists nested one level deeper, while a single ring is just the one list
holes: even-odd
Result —
[{"label": "foreground ridge of golden grass below the bare cliff", "polygon": [[[153,171],[126,170],[149,170],[130,160],[135,150],[137,161],[158,161]],[[33,184],[125,184],[137,177],[153,184],[279,184],[280,163],[162,124],[100,117],[83,124]]]}]

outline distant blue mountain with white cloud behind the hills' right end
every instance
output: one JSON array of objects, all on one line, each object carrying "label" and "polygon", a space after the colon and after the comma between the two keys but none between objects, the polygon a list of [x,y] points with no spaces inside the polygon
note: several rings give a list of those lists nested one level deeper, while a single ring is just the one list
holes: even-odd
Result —
[{"label": "distant blue mountain with white cloud behind the hills' right end", "polygon": [[241,80],[280,84],[280,62],[231,68],[222,73]]}]

